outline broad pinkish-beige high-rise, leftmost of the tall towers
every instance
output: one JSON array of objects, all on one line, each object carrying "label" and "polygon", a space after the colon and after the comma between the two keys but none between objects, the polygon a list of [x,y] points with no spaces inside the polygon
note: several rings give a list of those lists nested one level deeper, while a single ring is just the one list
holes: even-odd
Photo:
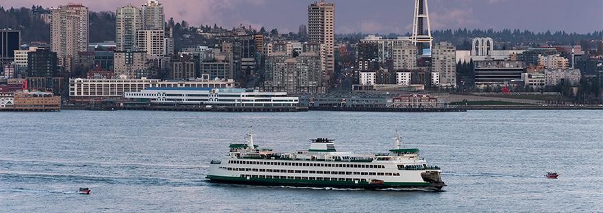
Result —
[{"label": "broad pinkish-beige high-rise, leftmost of the tall towers", "polygon": [[65,71],[75,71],[75,59],[88,49],[88,8],[81,4],[52,8],[51,49]]}]

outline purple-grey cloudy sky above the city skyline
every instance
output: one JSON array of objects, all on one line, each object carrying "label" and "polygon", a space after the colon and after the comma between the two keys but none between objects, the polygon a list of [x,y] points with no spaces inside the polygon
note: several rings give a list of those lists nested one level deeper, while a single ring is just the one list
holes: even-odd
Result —
[{"label": "purple-grey cloudy sky above the city skyline", "polygon": [[[44,7],[78,2],[90,10],[115,11],[127,3],[140,6],[146,0],[1,0],[5,8]],[[304,0],[160,0],[166,18],[183,19],[191,25],[254,27],[297,32],[307,23]],[[337,34],[400,33],[412,29],[413,0],[334,0]],[[587,33],[603,30],[603,0],[430,0],[432,29],[530,29],[544,32]],[[259,27],[258,27],[259,28]]]}]

